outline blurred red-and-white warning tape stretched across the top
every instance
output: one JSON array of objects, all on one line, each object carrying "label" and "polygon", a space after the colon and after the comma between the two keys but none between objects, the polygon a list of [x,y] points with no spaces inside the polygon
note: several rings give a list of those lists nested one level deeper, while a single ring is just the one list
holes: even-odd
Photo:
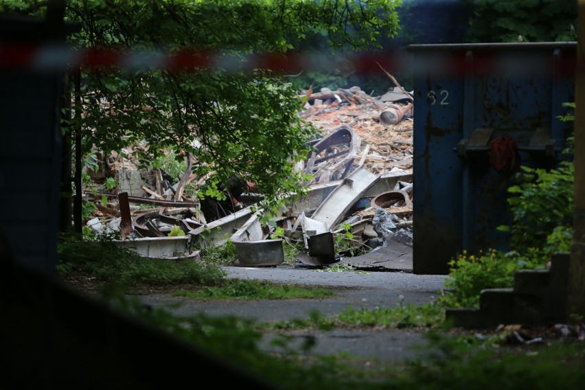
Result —
[{"label": "blurred red-and-white warning tape stretched across the top", "polygon": [[[440,45],[439,45],[440,46]],[[119,68],[119,69],[168,69],[170,71],[200,71],[201,69],[223,69],[227,71],[252,70],[256,68],[273,69],[279,72],[298,73],[301,69],[334,69],[346,67],[358,73],[380,73],[380,67],[387,71],[412,71],[413,73],[429,71],[446,75],[468,73],[498,73],[507,75],[532,74],[550,76],[561,73],[570,76],[576,70],[584,69],[583,63],[577,64],[576,56],[571,51],[564,52],[557,60],[542,53],[510,53],[508,51],[490,51],[472,57],[461,52],[430,51],[414,61],[418,54],[405,51],[380,51],[358,53],[346,56],[323,56],[320,54],[264,54],[236,56],[219,51],[142,51],[113,49],[73,50],[65,45],[14,45],[0,43],[0,68],[62,70],[64,68]],[[432,62],[430,64],[429,62]],[[532,72],[532,73],[531,73]]]}]

